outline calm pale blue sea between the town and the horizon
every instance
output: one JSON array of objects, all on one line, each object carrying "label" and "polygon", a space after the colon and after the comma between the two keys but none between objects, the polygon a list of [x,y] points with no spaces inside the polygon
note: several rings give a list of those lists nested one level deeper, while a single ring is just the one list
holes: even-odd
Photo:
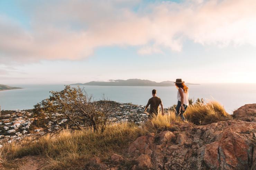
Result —
[{"label": "calm pale blue sea between the town and the horizon", "polygon": [[[64,85],[56,84],[11,84],[13,87],[23,89],[0,91],[1,110],[33,109],[33,106],[45,98],[49,91],[61,91]],[[77,87],[77,86],[73,86]],[[92,94],[95,100],[102,98],[103,94],[110,100],[133,104],[147,104],[152,97],[152,89],[157,90],[157,96],[162,99],[164,107],[170,107],[177,102],[177,89],[175,87],[131,87],[131,86],[81,86],[87,93]],[[189,98],[205,101],[217,100],[230,114],[239,107],[248,103],[256,103],[256,84],[201,84],[189,86]]]}]

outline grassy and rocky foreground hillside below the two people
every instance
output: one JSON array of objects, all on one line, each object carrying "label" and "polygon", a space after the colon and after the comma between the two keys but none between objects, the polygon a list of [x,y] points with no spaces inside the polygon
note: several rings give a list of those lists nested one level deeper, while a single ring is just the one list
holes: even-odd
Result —
[{"label": "grassy and rocky foreground hillside below the two people", "polygon": [[214,120],[226,113],[212,107],[219,112],[206,124],[181,122],[170,114],[141,126],[109,126],[104,133],[62,131],[37,142],[6,145],[0,160],[6,169],[256,169],[256,104],[240,107],[226,120]]}]

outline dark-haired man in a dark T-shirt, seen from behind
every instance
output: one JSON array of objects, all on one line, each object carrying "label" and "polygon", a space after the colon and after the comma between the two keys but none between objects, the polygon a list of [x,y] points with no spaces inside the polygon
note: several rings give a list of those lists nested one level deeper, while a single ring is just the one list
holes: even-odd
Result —
[{"label": "dark-haired man in a dark T-shirt, seen from behind", "polygon": [[148,115],[148,118],[150,118],[150,119],[153,118],[153,114],[155,114],[155,115],[158,114],[159,104],[161,105],[161,108],[162,108],[162,115],[164,115],[163,103],[162,103],[161,99],[156,96],[156,90],[155,89],[152,90],[152,96],[153,97],[148,100],[147,106],[145,108],[145,112],[146,112],[147,108],[150,104],[149,115]]}]

